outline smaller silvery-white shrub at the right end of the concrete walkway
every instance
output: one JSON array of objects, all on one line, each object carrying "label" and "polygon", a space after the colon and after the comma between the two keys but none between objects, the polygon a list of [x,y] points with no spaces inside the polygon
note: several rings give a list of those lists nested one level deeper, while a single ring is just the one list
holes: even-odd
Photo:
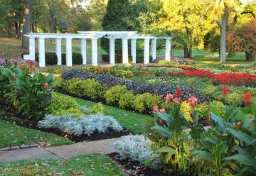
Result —
[{"label": "smaller silvery-white shrub at the right end of the concrete walkway", "polygon": [[113,146],[121,160],[138,161],[143,165],[147,160],[157,157],[151,150],[150,143],[150,140],[144,135],[129,135],[122,136],[121,140],[114,142]]}]

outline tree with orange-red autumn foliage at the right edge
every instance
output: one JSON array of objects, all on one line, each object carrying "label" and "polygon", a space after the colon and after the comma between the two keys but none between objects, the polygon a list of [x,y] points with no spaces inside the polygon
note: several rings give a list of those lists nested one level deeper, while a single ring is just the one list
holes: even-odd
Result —
[{"label": "tree with orange-red autumn foliage at the right edge", "polygon": [[234,26],[227,35],[228,52],[245,52],[246,60],[252,61],[256,56],[256,19]]}]

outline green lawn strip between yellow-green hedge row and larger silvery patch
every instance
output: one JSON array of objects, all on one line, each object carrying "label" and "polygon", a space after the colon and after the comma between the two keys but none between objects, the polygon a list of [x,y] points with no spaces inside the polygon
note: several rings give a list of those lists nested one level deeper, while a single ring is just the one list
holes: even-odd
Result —
[{"label": "green lawn strip between yellow-green hedge row and larger silvery patch", "polygon": [[[85,105],[87,108],[91,108],[93,105],[97,104],[92,101],[87,101],[84,99],[74,98],[78,104]],[[141,134],[145,132],[144,121],[146,119],[152,118],[151,116],[146,116],[144,114],[137,114],[132,111],[127,111],[125,109],[115,108],[113,106],[104,105],[104,114],[113,116],[120,125],[127,128],[133,134]]]}]

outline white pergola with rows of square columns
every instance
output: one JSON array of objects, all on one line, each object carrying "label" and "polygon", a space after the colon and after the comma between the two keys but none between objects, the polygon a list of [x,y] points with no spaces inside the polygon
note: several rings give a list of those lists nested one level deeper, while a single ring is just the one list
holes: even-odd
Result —
[{"label": "white pergola with rows of square columns", "polygon": [[46,50],[45,39],[55,38],[56,55],[58,57],[58,65],[61,65],[61,40],[65,40],[66,65],[71,67],[72,63],[72,39],[77,38],[81,41],[82,64],[86,65],[86,41],[91,40],[92,45],[92,65],[98,65],[97,59],[97,39],[109,38],[110,40],[110,64],[114,64],[114,40],[122,39],[122,62],[128,63],[128,40],[131,40],[132,63],[136,63],[136,45],[137,39],[144,40],[144,64],[149,63],[150,40],[151,40],[151,57],[156,59],[156,40],[166,40],[166,60],[171,60],[171,37],[156,37],[152,35],[138,35],[137,31],[78,31],[78,33],[28,33],[24,35],[29,38],[29,55],[23,55],[26,60],[35,60],[36,47],[35,39],[38,38],[38,56],[39,67],[46,67]]}]

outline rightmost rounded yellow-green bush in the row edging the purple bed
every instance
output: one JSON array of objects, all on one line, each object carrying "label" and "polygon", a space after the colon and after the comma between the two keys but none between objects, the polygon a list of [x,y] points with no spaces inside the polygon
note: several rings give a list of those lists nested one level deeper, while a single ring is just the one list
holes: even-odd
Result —
[{"label": "rightmost rounded yellow-green bush in the row edging the purple bed", "polygon": [[162,104],[162,97],[149,93],[137,94],[134,99],[133,107],[139,113],[152,111],[154,105]]}]

